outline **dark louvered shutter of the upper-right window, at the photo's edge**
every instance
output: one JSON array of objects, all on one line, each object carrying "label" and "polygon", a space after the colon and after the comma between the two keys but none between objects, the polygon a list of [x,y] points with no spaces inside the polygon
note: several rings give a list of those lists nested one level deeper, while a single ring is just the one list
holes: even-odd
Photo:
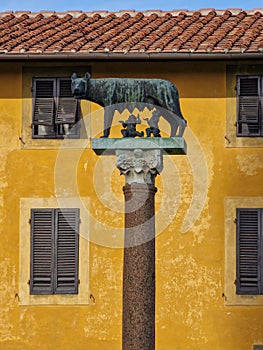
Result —
[{"label": "dark louvered shutter of the upper-right window, at the photo's edge", "polygon": [[239,136],[260,136],[260,78],[238,77],[238,131]]}]

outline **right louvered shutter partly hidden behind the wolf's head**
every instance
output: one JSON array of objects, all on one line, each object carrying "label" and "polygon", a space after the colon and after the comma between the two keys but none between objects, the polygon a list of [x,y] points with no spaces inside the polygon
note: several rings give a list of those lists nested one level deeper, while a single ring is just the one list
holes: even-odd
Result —
[{"label": "right louvered shutter partly hidden behind the wolf's head", "polygon": [[58,79],[56,124],[76,122],[78,101],[71,92],[71,79]]}]

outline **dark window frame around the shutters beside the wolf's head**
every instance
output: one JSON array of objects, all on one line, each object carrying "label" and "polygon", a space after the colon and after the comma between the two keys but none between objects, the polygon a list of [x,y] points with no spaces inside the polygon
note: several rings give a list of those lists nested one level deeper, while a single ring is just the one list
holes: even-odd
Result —
[{"label": "dark window frame around the shutters beside the wolf's head", "polygon": [[[69,77],[32,77],[32,139],[64,139],[64,138],[71,138],[71,139],[78,139],[80,138],[80,101],[77,99],[74,99],[76,103],[76,113],[75,113],[75,122],[74,123],[63,123],[63,122],[56,122],[58,109],[59,109],[59,101],[61,99],[61,96],[59,94],[60,92],[60,86],[62,81],[70,81],[71,78]],[[34,121],[35,117],[35,106],[36,106],[36,85],[37,82],[40,81],[52,81],[53,82],[53,110],[52,110],[52,124],[44,124],[44,123],[37,123]],[[73,97],[73,95],[72,95]],[[74,97],[73,97],[74,98]],[[60,131],[64,125],[72,124],[72,133],[64,134]],[[40,127],[49,127],[53,128],[53,130],[46,135],[39,134],[39,128]]]}]

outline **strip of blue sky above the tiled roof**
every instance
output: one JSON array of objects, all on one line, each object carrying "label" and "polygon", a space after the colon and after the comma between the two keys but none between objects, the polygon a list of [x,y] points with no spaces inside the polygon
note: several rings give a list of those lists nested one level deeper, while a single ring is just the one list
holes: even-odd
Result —
[{"label": "strip of blue sky above the tiled roof", "polygon": [[0,11],[27,10],[38,12],[44,10],[67,11],[82,10],[85,12],[95,10],[119,11],[119,10],[173,10],[187,9],[198,10],[201,8],[241,8],[251,10],[263,8],[262,0],[0,0]]}]

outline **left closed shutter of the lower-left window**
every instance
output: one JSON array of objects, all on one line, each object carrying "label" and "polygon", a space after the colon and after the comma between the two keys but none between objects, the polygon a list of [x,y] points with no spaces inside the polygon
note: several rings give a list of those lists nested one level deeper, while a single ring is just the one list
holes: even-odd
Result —
[{"label": "left closed shutter of the lower-left window", "polygon": [[30,294],[53,293],[54,211],[31,210]]}]

